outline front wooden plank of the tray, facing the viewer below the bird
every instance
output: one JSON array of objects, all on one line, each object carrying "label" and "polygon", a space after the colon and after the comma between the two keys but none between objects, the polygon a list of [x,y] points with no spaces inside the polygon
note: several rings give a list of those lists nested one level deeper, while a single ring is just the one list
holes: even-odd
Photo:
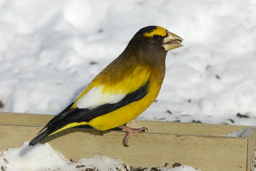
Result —
[{"label": "front wooden plank of the tray, facing the viewer below the bird", "polygon": [[[41,128],[0,125],[0,151],[19,147],[35,137]],[[201,170],[247,170],[248,137],[134,133],[129,139],[130,146],[124,147],[125,132],[104,131],[102,134],[96,130],[68,129],[43,142],[49,142],[66,158],[76,160],[100,153],[120,158],[133,167],[178,162]]]}]

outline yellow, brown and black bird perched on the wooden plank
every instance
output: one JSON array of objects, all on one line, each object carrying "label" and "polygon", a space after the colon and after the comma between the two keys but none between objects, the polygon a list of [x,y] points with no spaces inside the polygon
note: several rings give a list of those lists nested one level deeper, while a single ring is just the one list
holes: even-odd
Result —
[{"label": "yellow, brown and black bird perched on the wooden plank", "polygon": [[100,131],[116,127],[126,130],[123,144],[129,146],[131,134],[147,128],[129,128],[125,124],[156,100],[164,80],[166,54],[182,47],[182,41],[160,26],[141,28],[122,54],[100,71],[76,100],[54,116],[29,145],[68,128],[89,125]]}]

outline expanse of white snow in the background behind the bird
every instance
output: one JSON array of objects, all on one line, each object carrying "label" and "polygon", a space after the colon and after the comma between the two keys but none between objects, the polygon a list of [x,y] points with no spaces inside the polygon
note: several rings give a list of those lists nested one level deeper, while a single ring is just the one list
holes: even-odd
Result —
[{"label": "expanse of white snow in the background behind the bird", "polygon": [[[168,52],[157,101],[137,119],[255,126],[255,9],[253,0],[1,0],[0,112],[58,114],[141,27],[156,25],[184,47]],[[17,151],[13,162],[28,165]]]}]

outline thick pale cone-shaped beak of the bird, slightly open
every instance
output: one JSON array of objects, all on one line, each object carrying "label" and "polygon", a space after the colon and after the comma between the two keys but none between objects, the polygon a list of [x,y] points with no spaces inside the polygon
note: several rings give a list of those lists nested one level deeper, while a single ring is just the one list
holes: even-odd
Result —
[{"label": "thick pale cone-shaped beak of the bird, slightly open", "polygon": [[164,50],[172,50],[173,48],[183,47],[180,43],[182,43],[183,39],[177,36],[176,34],[171,33],[170,31],[166,31],[168,36],[164,38],[163,47]]}]

